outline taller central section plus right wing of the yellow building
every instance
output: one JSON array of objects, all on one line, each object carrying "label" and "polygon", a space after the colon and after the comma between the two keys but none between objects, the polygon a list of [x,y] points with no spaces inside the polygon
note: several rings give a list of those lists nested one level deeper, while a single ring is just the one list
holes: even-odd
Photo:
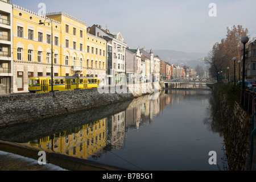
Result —
[{"label": "taller central section plus right wing of the yellow building", "polygon": [[[98,77],[106,73],[106,41],[86,33],[85,22],[65,14],[49,13],[61,23],[61,76]],[[71,69],[70,69],[71,67]]]}]

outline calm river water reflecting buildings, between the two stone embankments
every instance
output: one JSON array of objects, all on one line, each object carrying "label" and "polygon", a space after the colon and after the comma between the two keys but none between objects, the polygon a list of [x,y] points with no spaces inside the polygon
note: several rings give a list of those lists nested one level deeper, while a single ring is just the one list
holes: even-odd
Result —
[{"label": "calm river water reflecting buildings, between the two stone embankments", "polygon": [[[149,98],[2,128],[0,140],[127,170],[228,170],[211,90],[167,89]],[[0,158],[1,170],[22,169],[22,162],[31,170],[64,170],[6,152]]]}]

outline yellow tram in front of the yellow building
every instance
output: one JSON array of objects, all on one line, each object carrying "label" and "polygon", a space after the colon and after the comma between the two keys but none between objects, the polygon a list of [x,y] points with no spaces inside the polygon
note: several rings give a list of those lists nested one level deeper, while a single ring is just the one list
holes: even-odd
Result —
[{"label": "yellow tram in front of the yellow building", "polygon": [[[41,93],[52,91],[51,77],[30,77],[28,91],[31,93]],[[100,79],[97,77],[53,77],[53,91],[90,89],[97,88]]]}]

